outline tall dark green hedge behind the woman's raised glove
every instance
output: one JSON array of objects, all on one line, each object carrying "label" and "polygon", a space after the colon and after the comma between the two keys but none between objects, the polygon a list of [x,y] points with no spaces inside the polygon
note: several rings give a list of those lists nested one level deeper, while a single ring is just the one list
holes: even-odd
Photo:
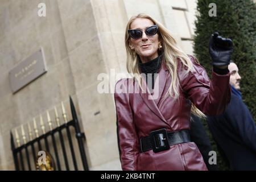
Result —
[{"label": "tall dark green hedge behind the woman's raised glove", "polygon": [[[209,3],[217,5],[217,16],[210,17]],[[218,31],[221,36],[231,38],[234,44],[232,60],[238,65],[241,92],[254,121],[256,121],[256,6],[251,0],[198,0],[195,22],[195,55],[200,64],[212,75],[212,61],[208,52],[210,35]],[[204,125],[207,127],[206,123]],[[208,130],[208,129],[207,129]],[[209,130],[208,130],[209,134]],[[209,136],[213,149],[216,144]],[[221,170],[228,169],[218,154],[217,162]]]}]

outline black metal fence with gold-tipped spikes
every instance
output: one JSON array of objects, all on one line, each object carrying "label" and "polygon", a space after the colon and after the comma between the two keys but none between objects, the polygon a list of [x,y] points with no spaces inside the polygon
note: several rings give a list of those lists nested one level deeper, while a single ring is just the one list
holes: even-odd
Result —
[{"label": "black metal fence with gold-tipped spikes", "polygon": [[[72,98],[70,97],[69,100],[70,100],[71,113],[73,118],[71,121],[67,121],[67,115],[64,111],[64,106],[62,105],[64,124],[60,125],[59,117],[55,107],[55,121],[57,125],[55,129],[52,129],[52,122],[51,122],[51,119],[49,119],[49,114],[47,111],[48,126],[50,129],[48,132],[45,131],[42,117],[40,117],[40,120],[41,120],[41,129],[43,134],[39,136],[36,122],[34,121],[34,131],[35,131],[34,139],[32,138],[31,127],[28,124],[28,134],[30,138],[29,142],[26,141],[27,140],[26,135],[24,134],[24,128],[22,126],[21,130],[22,130],[23,144],[20,145],[20,139],[17,131],[15,130],[16,146],[17,146],[15,147],[14,137],[11,132],[11,149],[13,151],[13,158],[14,158],[16,170],[31,171],[34,169],[40,169],[38,168],[39,167],[38,152],[44,151],[44,152],[47,152],[47,154],[49,155],[51,153],[50,150],[53,151],[55,156],[55,160],[53,160],[55,162],[51,162],[53,163],[53,168],[52,168],[53,170],[69,171],[71,170],[71,168],[75,170],[79,170],[78,162],[82,164],[80,166],[82,166],[82,168],[85,171],[89,170],[88,163],[86,160],[85,148],[84,148],[85,134],[81,133],[80,131],[79,121],[77,119],[77,114],[76,114],[75,106],[73,105]],[[71,129],[72,130],[75,129],[75,132],[71,132]],[[67,139],[64,137],[66,137]],[[76,147],[78,146],[79,148],[80,156],[78,156],[77,152],[75,152],[75,146],[73,145],[73,141],[72,141],[72,138],[74,137],[76,137],[76,140],[77,140]],[[50,140],[50,143],[49,143],[49,140]],[[68,155],[68,153],[71,155]],[[48,157],[50,156],[51,154]],[[34,166],[32,165],[33,164],[32,162],[34,162]],[[46,166],[47,164],[44,163],[44,165]]]}]

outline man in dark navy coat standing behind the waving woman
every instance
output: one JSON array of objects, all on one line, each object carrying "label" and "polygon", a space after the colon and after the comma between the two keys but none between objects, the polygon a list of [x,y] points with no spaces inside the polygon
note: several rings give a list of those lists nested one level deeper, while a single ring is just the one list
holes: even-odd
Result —
[{"label": "man in dark navy coat standing behind the waving woman", "polygon": [[232,170],[256,170],[256,126],[242,101],[238,68],[229,64],[231,100],[225,112],[208,117],[209,129]]}]

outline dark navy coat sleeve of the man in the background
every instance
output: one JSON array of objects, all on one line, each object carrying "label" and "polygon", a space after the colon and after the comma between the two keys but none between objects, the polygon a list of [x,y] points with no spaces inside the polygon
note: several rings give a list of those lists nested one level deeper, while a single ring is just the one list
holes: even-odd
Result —
[{"label": "dark navy coat sleeve of the man in the background", "polygon": [[225,111],[225,116],[243,142],[256,152],[256,125],[249,109],[240,98],[232,96],[229,107]]}]

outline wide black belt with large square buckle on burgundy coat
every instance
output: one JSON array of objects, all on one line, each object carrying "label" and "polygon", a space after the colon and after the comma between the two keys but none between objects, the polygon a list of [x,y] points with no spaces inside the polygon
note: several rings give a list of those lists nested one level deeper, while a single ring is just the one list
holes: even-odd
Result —
[{"label": "wide black belt with large square buckle on burgundy coat", "polygon": [[155,153],[168,150],[171,145],[191,142],[189,130],[168,132],[166,129],[151,131],[148,137],[140,139],[141,152],[153,150]]}]

